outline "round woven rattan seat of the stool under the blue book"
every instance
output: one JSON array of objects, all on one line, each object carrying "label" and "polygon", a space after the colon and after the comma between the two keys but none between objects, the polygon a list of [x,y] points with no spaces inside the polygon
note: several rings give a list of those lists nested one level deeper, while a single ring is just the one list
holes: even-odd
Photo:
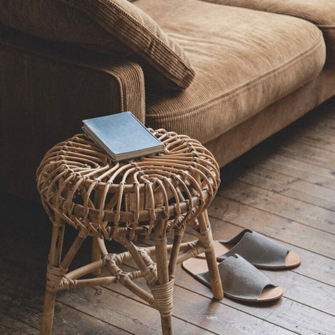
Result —
[{"label": "round woven rattan seat of the stool under the blue book", "polygon": [[48,214],[105,239],[119,239],[124,228],[131,239],[139,227],[150,234],[158,218],[167,230],[194,221],[214,198],[218,165],[186,135],[152,133],[165,151],[126,162],[111,161],[84,134],[47,151],[36,175]]}]

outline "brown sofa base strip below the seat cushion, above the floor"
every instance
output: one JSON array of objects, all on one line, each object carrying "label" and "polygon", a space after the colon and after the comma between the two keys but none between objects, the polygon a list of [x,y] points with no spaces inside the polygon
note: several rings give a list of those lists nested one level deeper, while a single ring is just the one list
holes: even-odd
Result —
[{"label": "brown sofa base strip below the seat cushion, above the floor", "polygon": [[205,147],[214,154],[220,166],[229,163],[334,96],[334,82],[335,66],[327,66],[318,77],[304,87],[207,142]]}]

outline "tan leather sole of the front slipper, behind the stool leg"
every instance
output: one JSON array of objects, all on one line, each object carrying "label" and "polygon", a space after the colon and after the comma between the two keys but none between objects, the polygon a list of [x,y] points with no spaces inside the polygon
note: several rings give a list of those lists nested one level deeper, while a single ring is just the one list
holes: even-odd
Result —
[{"label": "tan leather sole of the front slipper, behind the stool leg", "polygon": [[[201,258],[190,258],[182,263],[182,267],[188,274],[191,274],[195,279],[207,285],[207,287],[211,287],[209,281],[204,280],[203,276],[199,276],[200,274],[204,274],[208,272],[207,262]],[[234,297],[230,295],[228,292],[225,291],[223,288],[223,294],[226,297],[230,297],[232,299],[240,300],[240,301],[248,301],[248,302],[265,302],[265,301],[272,301],[280,298],[283,295],[283,290],[279,287],[265,287],[262,290],[262,293],[258,297],[258,299],[244,299],[243,297]]]}]

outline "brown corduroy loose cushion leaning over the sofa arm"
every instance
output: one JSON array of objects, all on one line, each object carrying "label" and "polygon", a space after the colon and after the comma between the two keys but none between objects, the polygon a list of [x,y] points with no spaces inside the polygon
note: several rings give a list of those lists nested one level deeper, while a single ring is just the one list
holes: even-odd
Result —
[{"label": "brown corduroy loose cushion leaning over the sofa arm", "polygon": [[126,0],[3,0],[0,21],[27,34],[137,61],[155,87],[186,89],[194,77],[181,47]]}]

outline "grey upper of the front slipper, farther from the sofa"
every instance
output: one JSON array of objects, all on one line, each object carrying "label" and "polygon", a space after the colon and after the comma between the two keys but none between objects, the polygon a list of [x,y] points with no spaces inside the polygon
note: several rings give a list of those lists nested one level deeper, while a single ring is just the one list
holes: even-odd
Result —
[{"label": "grey upper of the front slipper, farther from the sofa", "polygon": [[[266,286],[278,286],[240,255],[223,260],[218,265],[218,272],[223,292],[237,299],[257,300]],[[198,276],[202,281],[209,281],[208,272]]]}]

